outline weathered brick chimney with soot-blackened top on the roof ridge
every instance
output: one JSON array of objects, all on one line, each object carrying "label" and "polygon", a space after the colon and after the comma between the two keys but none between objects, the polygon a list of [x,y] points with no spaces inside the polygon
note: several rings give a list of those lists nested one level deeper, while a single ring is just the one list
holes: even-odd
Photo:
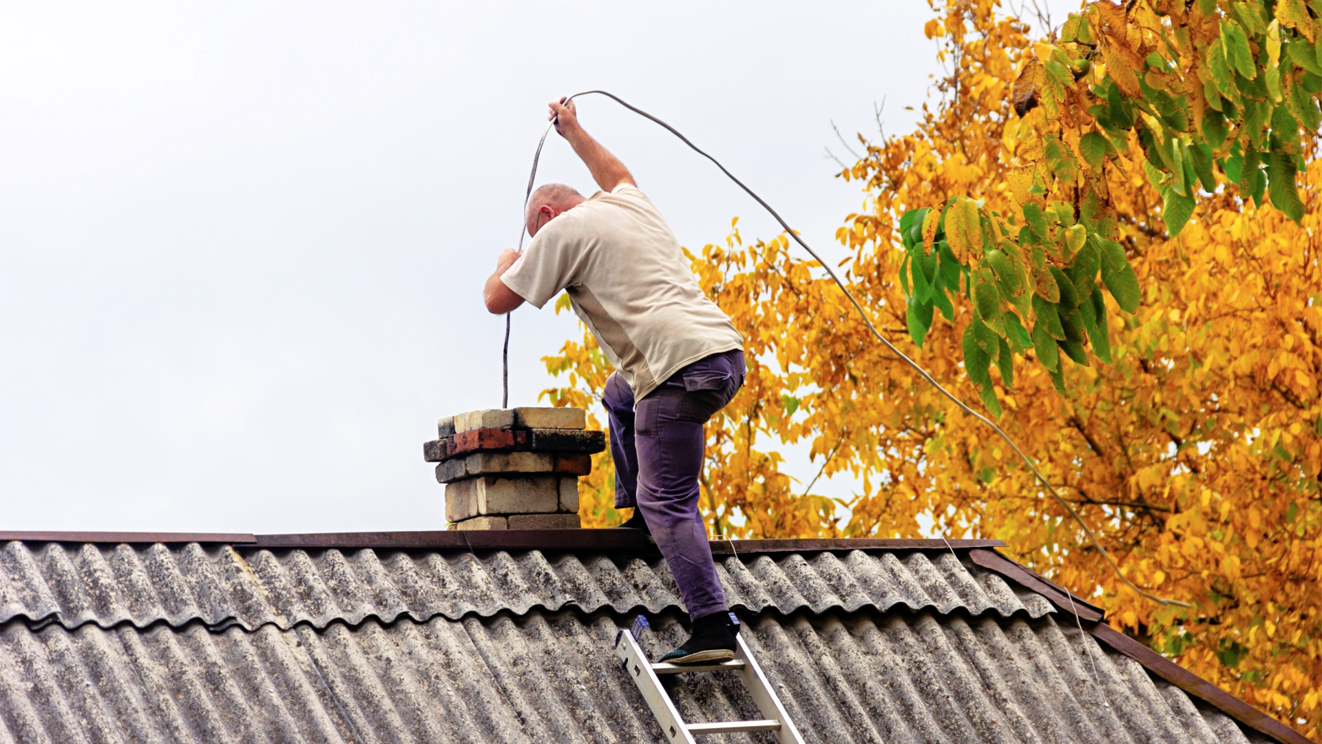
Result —
[{"label": "weathered brick chimney with soot-blackened top on the roof ridge", "polygon": [[451,530],[579,527],[578,479],[605,449],[582,408],[471,410],[438,424],[423,445],[446,485]]}]

